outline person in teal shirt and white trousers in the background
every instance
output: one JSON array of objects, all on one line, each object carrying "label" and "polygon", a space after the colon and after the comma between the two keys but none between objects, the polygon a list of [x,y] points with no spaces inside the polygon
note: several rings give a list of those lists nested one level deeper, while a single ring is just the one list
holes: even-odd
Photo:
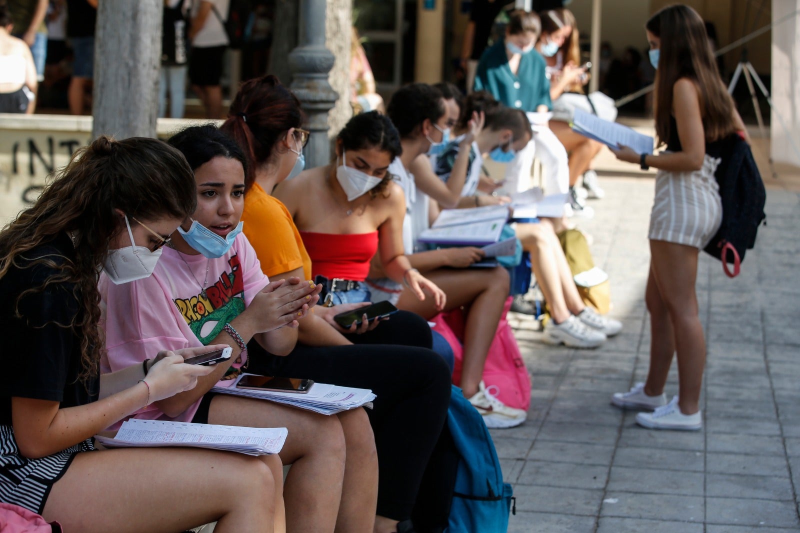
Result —
[{"label": "person in teal shirt and white trousers in the background", "polygon": [[[512,11],[506,35],[487,49],[478,63],[474,90],[486,90],[499,102],[526,112],[534,136],[525,148],[509,152],[500,162],[506,165],[505,188],[511,193],[530,188],[530,167],[534,157],[542,162],[542,185],[545,194],[567,194],[570,167],[566,150],[547,125],[550,110],[550,80],[546,62],[534,49],[542,30],[538,14]],[[566,206],[570,215],[574,207]]]}]

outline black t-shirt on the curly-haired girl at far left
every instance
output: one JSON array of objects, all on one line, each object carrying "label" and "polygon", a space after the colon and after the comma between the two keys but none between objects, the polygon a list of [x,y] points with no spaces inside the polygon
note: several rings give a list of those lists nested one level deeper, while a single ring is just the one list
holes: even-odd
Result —
[{"label": "black t-shirt on the curly-haired girl at far left", "polygon": [[[49,256],[58,264],[74,258],[72,242],[60,234],[52,242],[38,246],[24,255],[31,258]],[[22,297],[14,316],[17,299],[22,291],[39,287],[58,269],[42,264],[18,261],[0,278],[0,424],[11,425],[11,397],[44,399],[59,402],[61,407],[74,407],[94,402],[98,398],[98,377],[82,383],[81,339],[70,324],[81,313],[73,294],[72,283],[55,283],[44,291]],[[95,375],[97,376],[97,375]]]}]

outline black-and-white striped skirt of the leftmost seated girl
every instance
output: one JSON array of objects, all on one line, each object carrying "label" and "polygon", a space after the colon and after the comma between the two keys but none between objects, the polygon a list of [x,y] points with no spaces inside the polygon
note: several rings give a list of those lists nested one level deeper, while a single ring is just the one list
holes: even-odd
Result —
[{"label": "black-and-white striped skirt of the leftmost seated girl", "polygon": [[75,455],[94,450],[91,439],[41,459],[26,459],[19,453],[14,430],[0,426],[0,502],[14,503],[42,514],[50,488],[61,479]]}]

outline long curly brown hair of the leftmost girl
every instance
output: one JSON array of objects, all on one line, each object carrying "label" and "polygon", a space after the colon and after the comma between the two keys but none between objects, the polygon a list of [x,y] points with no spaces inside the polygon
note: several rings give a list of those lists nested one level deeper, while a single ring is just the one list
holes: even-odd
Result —
[{"label": "long curly brown hair of the leftmost girl", "polygon": [[[116,210],[126,214],[134,225],[134,217],[186,218],[196,205],[194,174],[182,154],[166,142],[99,137],[90,146],[77,150],[34,206],[23,210],[0,231],[0,278],[12,266],[42,265],[58,271],[40,287],[22,287],[15,314],[24,318],[19,303],[25,295],[51,285],[72,284],[81,312],[71,323],[56,325],[70,328],[81,337],[80,378],[96,375],[100,357],[106,351],[98,327],[99,267],[108,254],[111,238],[124,227]],[[67,230],[75,237],[74,261],[55,261],[52,255],[31,257],[28,253]]]}]

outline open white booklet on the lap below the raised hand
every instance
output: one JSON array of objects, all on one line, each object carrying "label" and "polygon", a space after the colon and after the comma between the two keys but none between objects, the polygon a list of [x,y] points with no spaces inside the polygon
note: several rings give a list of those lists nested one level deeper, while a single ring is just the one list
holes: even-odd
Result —
[{"label": "open white booklet on the lap below the raised hand", "polygon": [[509,217],[507,206],[445,209],[419,235],[420,242],[482,246],[497,242]]}]

